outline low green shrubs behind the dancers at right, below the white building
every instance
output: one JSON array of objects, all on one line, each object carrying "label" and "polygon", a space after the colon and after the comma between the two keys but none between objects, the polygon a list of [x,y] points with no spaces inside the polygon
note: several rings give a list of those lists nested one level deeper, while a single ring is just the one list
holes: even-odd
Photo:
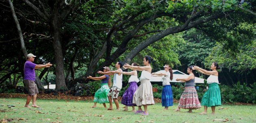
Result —
[{"label": "low green shrubs behind the dancers at right, below the white building", "polygon": [[[155,98],[161,98],[163,86],[154,84],[152,87],[158,89],[158,92],[154,92]],[[245,83],[240,85],[240,82],[232,85],[232,87],[228,85],[219,85],[221,91],[221,103],[253,103],[256,104],[256,82],[250,84],[249,86]],[[176,84],[172,86],[173,98],[176,100],[180,100],[180,96],[184,91],[184,85]],[[205,88],[200,86],[199,90],[197,90],[198,99],[201,101],[202,97],[205,93]]]}]

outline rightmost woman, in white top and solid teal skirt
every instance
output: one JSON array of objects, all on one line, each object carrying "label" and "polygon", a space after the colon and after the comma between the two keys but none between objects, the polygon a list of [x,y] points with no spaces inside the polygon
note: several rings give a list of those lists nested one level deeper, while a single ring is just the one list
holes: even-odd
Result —
[{"label": "rightmost woman, in white top and solid teal skirt", "polygon": [[200,73],[205,75],[210,75],[207,78],[207,83],[209,84],[209,89],[204,93],[202,98],[201,105],[204,106],[204,111],[200,114],[204,115],[207,114],[207,107],[212,108],[212,114],[215,114],[215,106],[221,105],[221,95],[219,90],[219,80],[218,80],[218,71],[219,65],[217,62],[213,62],[210,66],[210,69],[213,71],[206,71],[200,67],[194,66],[193,69],[196,69]]}]

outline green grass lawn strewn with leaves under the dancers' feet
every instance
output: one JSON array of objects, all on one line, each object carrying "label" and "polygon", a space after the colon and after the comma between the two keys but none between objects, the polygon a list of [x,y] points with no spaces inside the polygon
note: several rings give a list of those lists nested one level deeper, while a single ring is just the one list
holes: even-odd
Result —
[{"label": "green grass lawn strewn with leaves under the dancers' feet", "polygon": [[[157,103],[148,106],[149,115],[143,116],[130,111],[106,110],[102,104],[90,108],[93,101],[38,99],[37,105],[42,110],[23,107],[25,101],[25,98],[0,98],[0,120],[9,119],[9,123],[221,123],[228,119],[227,123],[256,123],[255,105],[222,105],[216,107],[215,115],[211,115],[210,108],[207,115],[199,115],[203,108],[193,113],[186,113],[184,109],[174,112],[177,104],[162,110],[161,103]],[[8,108],[7,104],[15,107]],[[113,106],[115,108],[115,104]],[[120,107],[124,105],[120,103]],[[218,110],[221,107],[227,109]]]}]

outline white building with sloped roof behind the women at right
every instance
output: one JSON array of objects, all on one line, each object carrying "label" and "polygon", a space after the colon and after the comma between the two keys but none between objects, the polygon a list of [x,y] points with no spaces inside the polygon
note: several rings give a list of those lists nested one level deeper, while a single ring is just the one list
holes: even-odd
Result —
[{"label": "white building with sloped roof behind the women at right", "polygon": [[[165,70],[161,70],[161,71],[157,71],[155,73],[164,73],[164,72],[165,72]],[[178,70],[172,70],[172,72],[173,72],[173,79],[170,81],[171,84],[178,83],[178,82],[179,83],[183,83],[181,81],[176,81],[176,79],[177,78],[183,79],[183,78],[187,78],[189,76],[188,74],[182,73],[182,72],[180,72]],[[195,83],[202,83],[203,84],[204,80],[205,79],[202,79],[202,78],[199,78],[199,77],[195,77]],[[163,81],[163,79],[160,76],[158,76],[158,77],[151,77],[151,79],[150,79],[150,82],[152,84],[162,85],[162,81]]]}]

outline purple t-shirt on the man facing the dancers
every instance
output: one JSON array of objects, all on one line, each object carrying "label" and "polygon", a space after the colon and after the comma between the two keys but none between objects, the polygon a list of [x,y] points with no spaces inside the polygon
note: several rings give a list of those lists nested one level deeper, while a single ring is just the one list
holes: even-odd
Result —
[{"label": "purple t-shirt on the man facing the dancers", "polygon": [[35,66],[36,64],[26,61],[24,65],[24,80],[35,81]]}]

